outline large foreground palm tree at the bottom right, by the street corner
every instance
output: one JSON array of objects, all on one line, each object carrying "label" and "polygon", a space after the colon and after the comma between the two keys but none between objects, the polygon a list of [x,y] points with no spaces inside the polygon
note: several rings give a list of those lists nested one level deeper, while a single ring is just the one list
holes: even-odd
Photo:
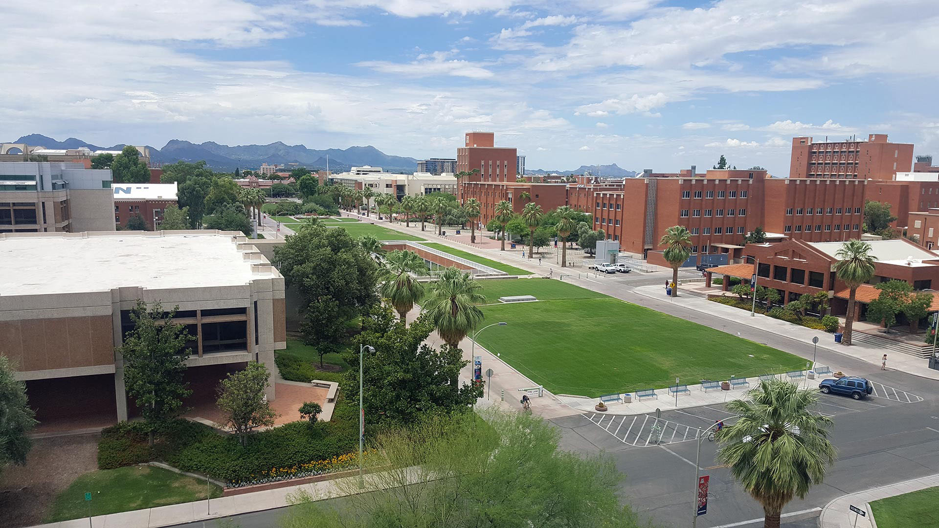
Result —
[{"label": "large foreground palm tree at the bottom right, by the street corner", "polygon": [[816,390],[789,381],[761,381],[746,399],[727,404],[740,419],[717,434],[717,459],[763,507],[763,526],[778,528],[783,506],[805,498],[835,461],[831,418],[811,408]]}]

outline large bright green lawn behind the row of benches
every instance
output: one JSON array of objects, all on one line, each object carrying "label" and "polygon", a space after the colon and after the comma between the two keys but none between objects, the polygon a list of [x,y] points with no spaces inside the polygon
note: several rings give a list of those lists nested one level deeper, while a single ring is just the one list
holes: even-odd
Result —
[{"label": "large bright green lawn behind the row of benches", "polygon": [[805,360],[681,318],[550,279],[483,280],[486,349],[555,394],[600,396],[800,368]]}]

